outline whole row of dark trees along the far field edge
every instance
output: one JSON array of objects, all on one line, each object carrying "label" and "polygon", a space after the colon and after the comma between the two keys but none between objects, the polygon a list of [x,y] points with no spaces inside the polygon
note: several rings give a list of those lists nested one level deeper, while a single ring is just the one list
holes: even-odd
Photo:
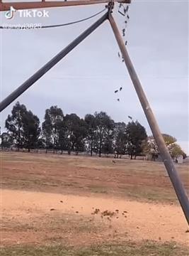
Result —
[{"label": "whole row of dark trees along the far field edge", "polygon": [[[131,159],[149,153],[158,154],[153,137],[147,136],[142,124],[132,119],[127,124],[115,122],[105,112],[86,114],[82,119],[77,114],[64,115],[61,108],[52,106],[45,110],[40,125],[37,115],[16,102],[6,118],[5,128],[7,132],[1,134],[2,149],[52,149],[67,151],[68,154],[86,151],[91,156],[95,153],[100,157],[101,154],[115,154],[116,157],[127,154]],[[174,147],[176,139],[171,136],[169,139]],[[177,145],[178,153],[184,154]]]}]

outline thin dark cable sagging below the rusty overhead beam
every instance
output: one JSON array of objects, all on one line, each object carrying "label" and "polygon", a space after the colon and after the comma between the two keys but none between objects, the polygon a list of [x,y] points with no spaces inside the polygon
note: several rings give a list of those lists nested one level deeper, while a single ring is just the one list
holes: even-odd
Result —
[{"label": "thin dark cable sagging below the rusty overhead beam", "polygon": [[47,25],[47,26],[35,26],[35,27],[31,27],[31,28],[21,28],[21,27],[16,27],[16,26],[0,26],[1,29],[34,29],[34,28],[58,28],[58,27],[62,27],[62,26],[69,26],[69,25],[74,25],[76,23],[81,23],[83,21],[87,21],[93,17],[98,16],[99,14],[103,13],[103,11],[105,11],[107,8],[103,9],[102,11],[98,11],[98,13],[93,14],[92,16],[89,16],[88,18],[82,18],[81,20],[78,21],[71,21],[69,23],[63,23],[63,24],[55,24],[55,25]]}]

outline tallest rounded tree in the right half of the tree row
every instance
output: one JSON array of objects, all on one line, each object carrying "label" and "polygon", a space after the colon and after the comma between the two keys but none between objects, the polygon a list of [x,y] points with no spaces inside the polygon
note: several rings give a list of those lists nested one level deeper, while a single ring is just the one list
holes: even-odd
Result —
[{"label": "tallest rounded tree in the right half of the tree row", "polygon": [[94,116],[96,118],[96,146],[99,157],[101,157],[103,146],[106,144],[107,154],[107,144],[110,146],[112,143],[110,141],[113,139],[114,121],[105,112],[95,112]]}]

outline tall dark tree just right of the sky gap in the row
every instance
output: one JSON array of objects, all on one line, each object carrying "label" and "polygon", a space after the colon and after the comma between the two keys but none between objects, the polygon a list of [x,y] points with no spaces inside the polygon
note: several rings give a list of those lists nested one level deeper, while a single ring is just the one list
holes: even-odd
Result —
[{"label": "tall dark tree just right of the sky gap in the row", "polygon": [[45,138],[46,147],[51,146],[55,150],[58,142],[58,126],[63,121],[64,114],[61,108],[52,106],[45,110],[45,121],[42,123],[42,134]]}]

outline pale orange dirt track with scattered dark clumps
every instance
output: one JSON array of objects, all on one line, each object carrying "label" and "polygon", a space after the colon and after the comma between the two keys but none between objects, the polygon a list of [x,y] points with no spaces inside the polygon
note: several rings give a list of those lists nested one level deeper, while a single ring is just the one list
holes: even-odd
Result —
[{"label": "pale orange dirt track with scattered dark clumps", "polygon": [[[59,240],[68,240],[74,244],[90,243],[90,239],[94,242],[113,237],[118,240],[176,241],[189,246],[189,233],[185,233],[188,225],[178,206],[140,203],[118,198],[64,196],[56,193],[11,190],[2,190],[1,200],[1,245],[42,242],[43,236],[47,240],[53,240],[55,235],[56,238],[58,235]],[[96,208],[100,211],[91,214]],[[102,218],[101,213],[105,210],[109,210],[113,215]],[[93,223],[93,227],[101,224],[101,230],[93,233],[91,227],[88,237],[86,230],[82,233],[81,230],[74,229],[76,223],[69,223],[70,216],[77,221],[78,218],[81,221],[88,220]],[[65,219],[64,225],[69,225],[69,232],[62,230],[61,227],[54,227],[55,232],[52,227],[50,229],[50,223],[54,218]],[[62,225],[61,221],[57,225]],[[35,228],[32,228],[34,226]]]}]

